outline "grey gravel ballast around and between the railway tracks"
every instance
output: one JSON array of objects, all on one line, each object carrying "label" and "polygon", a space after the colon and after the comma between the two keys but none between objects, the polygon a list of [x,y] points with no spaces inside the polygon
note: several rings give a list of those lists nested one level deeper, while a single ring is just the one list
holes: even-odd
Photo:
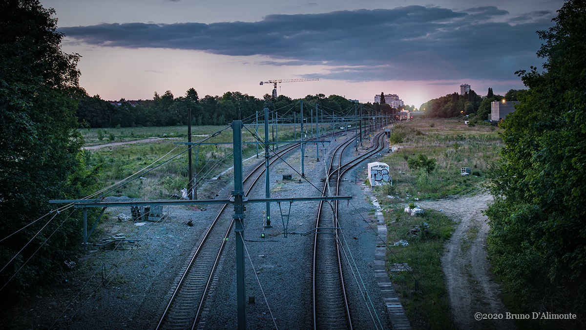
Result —
[{"label": "grey gravel ballast around and between the railway tracks", "polygon": [[[344,138],[338,137],[338,142]],[[334,149],[334,144],[328,151]],[[368,142],[364,143],[366,147]],[[353,148],[352,148],[353,150]],[[360,153],[366,150],[360,150]],[[308,144],[305,150],[306,180],[299,183],[299,174],[287,164],[277,161],[271,167],[271,197],[320,196],[315,187],[321,188],[325,177],[325,158],[320,150],[320,160],[315,161],[315,144]],[[329,156],[329,154],[328,154]],[[350,155],[346,156],[350,159]],[[328,158],[329,159],[329,158]],[[301,171],[299,153],[286,159],[294,169]],[[340,201],[339,221],[343,228],[345,251],[349,254],[354,274],[346,264],[346,292],[349,298],[353,326],[355,329],[374,329],[373,322],[380,322],[390,329],[386,306],[380,289],[374,280],[373,262],[377,244],[376,220],[369,215],[372,204],[364,194],[360,181],[365,177],[364,167],[370,160],[363,161],[355,170],[345,174],[340,195],[353,196],[352,201]],[[262,161],[259,159],[258,161]],[[255,159],[244,164],[244,172]],[[291,174],[292,180],[282,180],[283,174]],[[230,173],[216,180],[220,196],[229,198],[233,190]],[[357,181],[357,182],[355,182]],[[221,186],[221,187],[220,187]],[[250,196],[264,197],[264,180],[253,189]],[[204,198],[200,196],[200,198]],[[115,215],[130,215],[125,208],[108,208],[108,220],[104,220],[93,237],[106,238],[114,234],[125,234],[127,239],[142,240],[140,245],[128,250],[91,250],[85,254],[76,270],[63,274],[63,281],[47,288],[39,298],[30,299],[18,314],[16,329],[54,328],[59,329],[154,329],[176,281],[179,271],[193,245],[200,240],[220,206],[201,206],[205,211],[189,207],[171,207],[170,222],[147,222],[136,226],[132,221],[118,221]],[[289,203],[281,203],[282,213],[287,215]],[[295,202],[291,206],[288,230],[306,233],[313,229],[317,202]],[[312,327],[311,264],[313,234],[289,234],[283,237],[283,223],[277,203],[271,204],[272,228],[264,228],[264,204],[248,204],[246,210],[244,239],[246,257],[247,328],[269,329],[276,324],[280,329],[308,329]],[[185,223],[192,220],[193,227]],[[285,219],[286,220],[286,219]],[[91,222],[91,220],[90,220]],[[373,230],[374,228],[374,230]],[[261,234],[265,238],[261,238]],[[131,244],[127,244],[131,247]],[[250,260],[248,254],[250,254]],[[354,265],[355,264],[355,265]],[[254,267],[254,269],[253,269]],[[357,275],[357,274],[360,274]],[[101,285],[104,274],[107,286]],[[264,301],[264,291],[271,312]],[[357,280],[355,280],[355,276]],[[364,288],[368,295],[364,293]],[[96,292],[94,292],[96,291]],[[363,294],[366,301],[363,298]],[[254,296],[254,303],[248,297]],[[366,303],[372,301],[372,307]],[[378,319],[377,319],[378,318]],[[374,319],[374,321],[373,321]],[[236,261],[234,234],[223,252],[223,258],[216,271],[212,289],[207,297],[202,314],[200,329],[234,329],[236,315]],[[379,321],[380,320],[380,321]]]}]

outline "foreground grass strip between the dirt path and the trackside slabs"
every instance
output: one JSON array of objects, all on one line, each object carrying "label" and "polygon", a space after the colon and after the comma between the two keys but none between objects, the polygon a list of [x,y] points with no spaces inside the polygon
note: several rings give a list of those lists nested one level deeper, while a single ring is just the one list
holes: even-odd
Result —
[{"label": "foreground grass strip between the dirt path and the trackside slabs", "polygon": [[[384,212],[384,216],[389,228],[386,267],[411,326],[413,329],[451,329],[449,318],[452,316],[440,257],[444,242],[454,231],[452,220],[434,210],[411,217],[403,209],[395,209]],[[418,234],[410,235],[415,226],[420,228]],[[407,241],[408,245],[393,246],[400,240]],[[393,264],[403,263],[411,267],[410,272],[390,271]]]}]

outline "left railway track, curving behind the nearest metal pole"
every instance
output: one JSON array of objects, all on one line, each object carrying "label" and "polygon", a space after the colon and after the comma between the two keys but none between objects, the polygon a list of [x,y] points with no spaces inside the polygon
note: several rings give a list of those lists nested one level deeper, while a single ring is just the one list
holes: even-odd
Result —
[{"label": "left railway track, curving behind the nearest metal pole", "polygon": [[[282,156],[297,147],[299,147],[299,143],[292,144],[275,153]],[[277,156],[271,156],[270,164],[278,159]],[[259,164],[244,178],[243,185],[246,191],[244,196],[248,196],[254,184],[263,177],[264,167],[264,163]],[[206,233],[200,238],[196,248],[191,252],[189,262],[182,270],[183,274],[156,326],[156,330],[195,328],[197,318],[203,311],[214,271],[234,224],[231,214],[224,214],[229,205],[224,204]]]}]

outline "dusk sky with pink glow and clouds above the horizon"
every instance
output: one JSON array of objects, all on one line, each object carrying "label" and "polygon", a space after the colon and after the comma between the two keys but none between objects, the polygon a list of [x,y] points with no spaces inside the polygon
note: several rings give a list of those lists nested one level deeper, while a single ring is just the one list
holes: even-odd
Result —
[{"label": "dusk sky with pink glow and clouds above the horizon", "polygon": [[[315,1],[315,2],[314,2]],[[419,107],[459,92],[524,88],[541,68],[536,31],[563,0],[40,0],[54,8],[62,49],[82,57],[80,85],[105,100],[262,98],[276,79],[292,98],[323,93],[373,102],[397,94]]]}]

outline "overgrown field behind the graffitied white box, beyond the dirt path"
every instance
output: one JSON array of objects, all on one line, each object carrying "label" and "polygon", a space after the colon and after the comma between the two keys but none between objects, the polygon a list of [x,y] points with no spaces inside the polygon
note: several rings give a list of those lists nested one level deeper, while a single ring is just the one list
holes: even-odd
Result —
[{"label": "overgrown field behind the graffitied white box, beyond the dirt path", "polygon": [[[393,131],[403,135],[397,149],[380,161],[389,164],[393,187],[384,193],[398,197],[440,198],[473,193],[488,171],[489,164],[498,159],[503,146],[498,129],[478,125],[469,127],[458,120],[427,119],[396,124]],[[413,170],[407,159],[419,154],[436,160],[431,173]],[[462,176],[461,168],[469,167],[471,174]]]}]

